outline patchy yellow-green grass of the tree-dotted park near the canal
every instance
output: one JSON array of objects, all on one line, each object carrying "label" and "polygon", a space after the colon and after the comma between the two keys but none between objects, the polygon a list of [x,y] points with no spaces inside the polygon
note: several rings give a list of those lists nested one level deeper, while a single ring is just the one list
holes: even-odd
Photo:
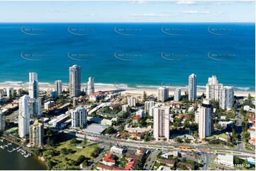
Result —
[{"label": "patchy yellow-green grass of the tree-dotted park near the canal", "polygon": [[[71,146],[70,141],[71,140],[64,141],[60,143],[60,145],[57,146],[56,148],[48,147],[46,151],[43,153],[44,158],[48,158],[48,160],[51,160],[57,164],[54,167],[52,167],[52,170],[66,170],[67,167],[80,168],[79,165],[78,166],[68,165],[68,163],[72,160],[77,161],[80,155],[84,155],[85,158],[89,158],[89,160],[91,160],[91,153],[94,151],[96,146],[98,146],[94,144],[94,145],[87,146],[85,148],[80,149],[80,148],[77,148],[77,146],[74,146],[74,145]],[[74,153],[62,154],[60,153],[60,150],[62,148],[71,149],[72,151],[74,151]],[[47,152],[52,151],[52,149],[57,151],[60,154],[56,156],[48,155]]]}]

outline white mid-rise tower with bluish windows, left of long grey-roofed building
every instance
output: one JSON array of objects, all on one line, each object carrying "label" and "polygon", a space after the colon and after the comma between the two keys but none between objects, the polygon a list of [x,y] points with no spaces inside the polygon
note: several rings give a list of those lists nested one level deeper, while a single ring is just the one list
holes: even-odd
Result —
[{"label": "white mid-rise tower with bluish windows, left of long grey-roofed building", "polygon": [[77,107],[71,112],[72,128],[79,128],[87,125],[87,108]]}]

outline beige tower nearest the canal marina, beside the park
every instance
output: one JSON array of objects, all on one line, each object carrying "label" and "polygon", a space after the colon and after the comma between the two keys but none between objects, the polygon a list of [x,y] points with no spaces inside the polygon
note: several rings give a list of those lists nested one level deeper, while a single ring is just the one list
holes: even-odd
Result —
[{"label": "beige tower nearest the canal marina, beside the park", "polygon": [[33,125],[30,125],[29,140],[33,146],[43,146],[44,124],[35,120]]}]

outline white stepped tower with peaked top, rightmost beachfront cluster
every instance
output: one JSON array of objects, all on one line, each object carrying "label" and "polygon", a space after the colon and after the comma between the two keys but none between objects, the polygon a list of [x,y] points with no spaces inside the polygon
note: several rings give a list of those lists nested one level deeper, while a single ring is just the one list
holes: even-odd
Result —
[{"label": "white stepped tower with peaked top, rightmost beachfront cluster", "polygon": [[220,89],[222,87],[223,85],[218,83],[216,76],[208,78],[208,83],[206,84],[206,98],[210,100],[219,100]]}]

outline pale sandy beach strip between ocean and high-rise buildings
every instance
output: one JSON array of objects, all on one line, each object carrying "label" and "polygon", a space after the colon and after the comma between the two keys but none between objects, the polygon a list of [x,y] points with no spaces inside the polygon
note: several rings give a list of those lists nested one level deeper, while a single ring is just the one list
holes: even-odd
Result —
[{"label": "pale sandy beach strip between ocean and high-rise buildings", "polygon": [[[21,86],[19,84],[8,84],[8,83],[1,83],[0,84],[0,89],[3,88],[8,88],[8,87],[13,87],[14,90],[17,90],[18,88],[23,88],[26,90],[27,86]],[[68,86],[62,85],[62,88],[67,90]],[[155,87],[155,86],[154,86]],[[51,84],[39,84],[40,90],[48,90],[48,89],[54,89],[54,86]],[[85,87],[82,86],[81,90],[83,90]],[[143,95],[143,92],[145,91],[148,95],[155,94],[157,95],[157,88],[128,88],[126,86],[94,86],[95,92],[101,90],[101,91],[108,91],[108,90],[123,90],[122,94],[134,94],[134,95]],[[169,95],[174,95],[174,90],[176,88],[180,87],[169,87]],[[185,94],[185,90],[188,90],[188,88],[181,88],[182,89],[182,95]],[[197,89],[196,90],[196,95],[202,95],[206,94],[206,89]],[[239,91],[239,90],[234,90],[234,95],[236,96],[243,96],[247,97],[247,95],[250,93],[252,97],[255,98],[255,92],[254,91]]]}]

